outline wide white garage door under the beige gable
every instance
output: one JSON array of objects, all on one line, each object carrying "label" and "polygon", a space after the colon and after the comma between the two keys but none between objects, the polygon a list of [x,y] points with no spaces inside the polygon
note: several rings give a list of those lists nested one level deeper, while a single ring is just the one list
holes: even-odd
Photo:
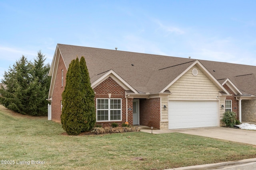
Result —
[{"label": "wide white garage door under the beige gable", "polygon": [[218,126],[217,101],[169,101],[169,129]]}]

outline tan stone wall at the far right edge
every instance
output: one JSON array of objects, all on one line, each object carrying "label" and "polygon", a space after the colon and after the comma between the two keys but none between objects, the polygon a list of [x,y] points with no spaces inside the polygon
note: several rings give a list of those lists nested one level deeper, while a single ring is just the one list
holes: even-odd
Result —
[{"label": "tan stone wall at the far right edge", "polygon": [[256,100],[242,100],[242,122],[256,122]]}]

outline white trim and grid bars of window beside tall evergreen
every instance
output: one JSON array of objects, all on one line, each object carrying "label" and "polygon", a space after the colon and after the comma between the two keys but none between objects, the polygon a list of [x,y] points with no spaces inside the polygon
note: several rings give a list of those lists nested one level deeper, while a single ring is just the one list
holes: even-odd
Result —
[{"label": "white trim and grid bars of window beside tall evergreen", "polygon": [[[98,99],[108,100],[108,109],[98,109]],[[120,109],[110,109],[110,100],[120,100]],[[108,110],[108,120],[98,120],[98,110]],[[110,120],[110,111],[120,110],[120,120]],[[96,122],[122,121],[122,98],[96,98]]]}]

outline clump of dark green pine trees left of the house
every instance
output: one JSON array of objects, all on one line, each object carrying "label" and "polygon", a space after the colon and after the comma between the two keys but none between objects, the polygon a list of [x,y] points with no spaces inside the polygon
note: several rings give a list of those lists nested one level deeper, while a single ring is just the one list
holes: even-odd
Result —
[{"label": "clump of dark green pine trees left of the house", "polygon": [[16,61],[8,72],[4,72],[0,88],[0,104],[8,109],[27,115],[47,115],[46,100],[50,88],[48,72],[50,65],[44,65],[45,56],[38,51],[34,63],[24,55]]}]

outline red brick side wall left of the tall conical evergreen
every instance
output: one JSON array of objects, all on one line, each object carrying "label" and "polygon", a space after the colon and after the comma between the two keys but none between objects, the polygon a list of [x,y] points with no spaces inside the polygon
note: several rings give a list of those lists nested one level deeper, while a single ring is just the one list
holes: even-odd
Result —
[{"label": "red brick side wall left of the tall conical evergreen", "polygon": [[[63,86],[61,86],[61,70],[63,69]],[[62,57],[60,57],[59,63],[58,63],[58,69],[52,94],[52,120],[60,123],[60,102],[62,100],[61,94],[64,91],[64,87],[66,84],[66,73],[67,69],[64,64],[64,61],[62,60]]]}]

